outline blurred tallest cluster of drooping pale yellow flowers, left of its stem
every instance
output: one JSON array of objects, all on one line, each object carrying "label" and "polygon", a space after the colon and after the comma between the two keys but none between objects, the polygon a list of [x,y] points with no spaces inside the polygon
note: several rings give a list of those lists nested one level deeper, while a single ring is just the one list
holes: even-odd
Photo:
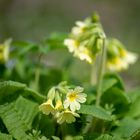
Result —
[{"label": "blurred tallest cluster of drooping pale yellow flowers, left of its stem", "polygon": [[84,21],[77,21],[64,44],[75,57],[92,63],[102,48],[104,38],[99,19],[94,15]]}]

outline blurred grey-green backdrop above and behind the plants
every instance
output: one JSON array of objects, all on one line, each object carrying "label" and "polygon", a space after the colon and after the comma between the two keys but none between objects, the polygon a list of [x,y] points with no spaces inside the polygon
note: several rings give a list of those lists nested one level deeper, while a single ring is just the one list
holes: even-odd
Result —
[{"label": "blurred grey-green backdrop above and behind the plants", "polygon": [[[0,40],[12,37],[37,42],[52,32],[69,32],[76,20],[94,11],[101,16],[108,37],[120,39],[140,54],[140,0],[0,0]],[[140,83],[139,60],[122,73],[129,87]]]}]

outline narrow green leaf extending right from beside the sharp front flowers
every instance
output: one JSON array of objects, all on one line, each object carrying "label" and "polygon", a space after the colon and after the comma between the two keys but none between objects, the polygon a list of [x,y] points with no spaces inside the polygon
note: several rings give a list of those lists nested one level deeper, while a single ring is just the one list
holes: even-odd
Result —
[{"label": "narrow green leaf extending right from beside the sharp front flowers", "polygon": [[112,120],[111,115],[109,115],[105,109],[96,107],[94,105],[82,105],[81,109],[78,112],[82,114],[92,115],[93,117],[106,121]]}]

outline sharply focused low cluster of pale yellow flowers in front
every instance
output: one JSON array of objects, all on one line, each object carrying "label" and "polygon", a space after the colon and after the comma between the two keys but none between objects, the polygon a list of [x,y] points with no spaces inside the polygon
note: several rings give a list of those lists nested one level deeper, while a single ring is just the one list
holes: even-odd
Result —
[{"label": "sharply focused low cluster of pale yellow flowers in front", "polygon": [[75,122],[75,117],[80,117],[77,110],[80,109],[80,103],[86,102],[86,94],[82,87],[72,89],[66,83],[60,83],[58,86],[49,90],[47,101],[39,106],[43,114],[54,115],[59,124],[63,122]]}]

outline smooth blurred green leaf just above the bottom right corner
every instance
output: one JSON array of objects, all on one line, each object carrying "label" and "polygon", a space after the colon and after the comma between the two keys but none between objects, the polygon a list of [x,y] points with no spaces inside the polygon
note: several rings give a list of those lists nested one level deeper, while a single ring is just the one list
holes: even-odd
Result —
[{"label": "smooth blurred green leaf just above the bottom right corner", "polygon": [[129,138],[135,131],[140,128],[140,119],[135,120],[130,117],[120,121],[120,126],[113,131],[113,134],[120,137]]}]

